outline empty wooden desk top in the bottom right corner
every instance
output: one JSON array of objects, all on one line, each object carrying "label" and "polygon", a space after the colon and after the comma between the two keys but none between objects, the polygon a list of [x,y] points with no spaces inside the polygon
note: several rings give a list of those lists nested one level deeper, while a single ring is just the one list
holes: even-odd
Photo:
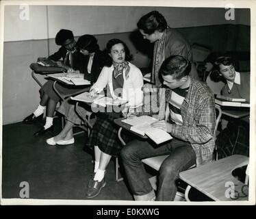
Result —
[{"label": "empty wooden desk top in the bottom right corner", "polygon": [[180,172],[179,177],[214,201],[233,201],[225,196],[225,192],[229,189],[229,186],[225,187],[225,184],[233,182],[235,191],[238,191],[240,196],[244,196],[242,190],[247,195],[238,198],[237,201],[248,201],[248,187],[244,186],[244,183],[235,179],[231,174],[235,168],[248,164],[248,159],[243,155],[232,155],[210,164]]}]

